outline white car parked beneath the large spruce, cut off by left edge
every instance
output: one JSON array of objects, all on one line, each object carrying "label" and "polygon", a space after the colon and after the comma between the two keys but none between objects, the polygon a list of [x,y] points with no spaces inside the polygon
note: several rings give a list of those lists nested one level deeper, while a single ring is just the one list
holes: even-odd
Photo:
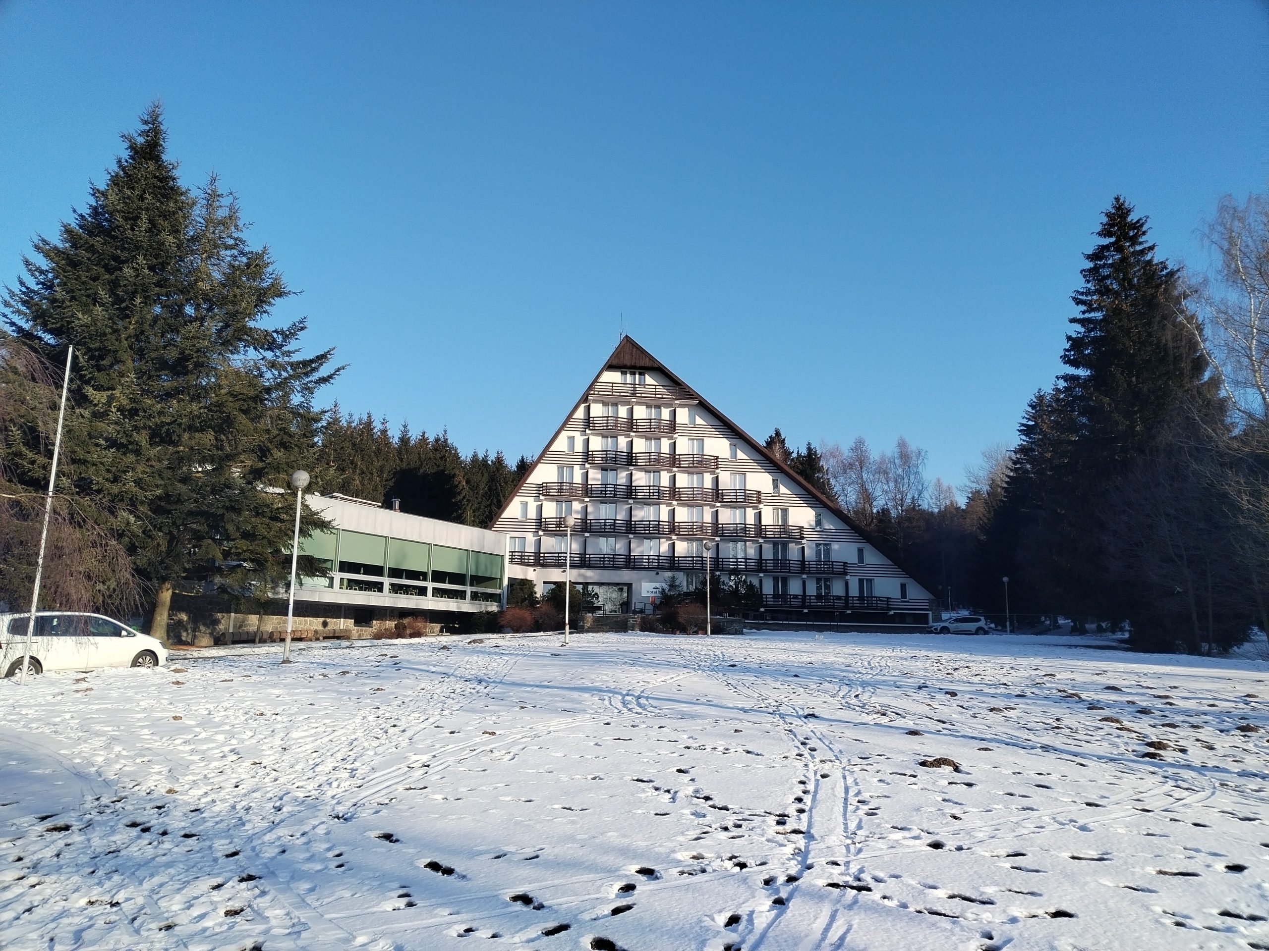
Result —
[{"label": "white car parked beneath the large spruce, cut off by left edge", "polygon": [[[0,614],[0,671],[22,671],[29,614]],[[98,667],[159,667],[168,663],[161,640],[100,614],[37,611],[28,673],[91,671]]]}]

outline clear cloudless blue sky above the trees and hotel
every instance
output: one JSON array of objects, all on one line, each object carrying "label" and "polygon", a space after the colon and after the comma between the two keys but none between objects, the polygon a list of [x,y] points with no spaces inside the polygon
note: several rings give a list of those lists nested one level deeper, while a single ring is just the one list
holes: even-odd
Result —
[{"label": "clear cloudless blue sky above the trees and hotel", "polygon": [[161,99],[329,399],[536,454],[621,327],[753,435],[962,481],[1115,193],[1202,264],[1269,180],[1269,5],[0,4],[0,283]]}]

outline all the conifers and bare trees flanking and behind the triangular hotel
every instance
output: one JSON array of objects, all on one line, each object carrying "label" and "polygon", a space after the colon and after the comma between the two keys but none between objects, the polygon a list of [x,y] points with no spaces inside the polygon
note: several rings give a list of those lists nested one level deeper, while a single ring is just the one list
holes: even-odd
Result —
[{"label": "all the conifers and bare trees flanking and behind the triangular hotel", "polygon": [[[161,635],[178,590],[266,600],[297,468],[316,492],[490,524],[529,460],[324,408],[334,353],[303,356],[305,322],[272,320],[292,292],[232,193],[181,183],[157,107],[123,143],[0,299],[0,601],[29,601],[69,345],[43,604],[145,612]],[[1008,576],[1014,612],[1148,649],[1237,644],[1269,626],[1269,197],[1226,199],[1207,235],[1213,265],[1185,269],[1113,200],[1065,372],[959,487],[905,439],[766,445],[947,606],[1003,615]]]}]

